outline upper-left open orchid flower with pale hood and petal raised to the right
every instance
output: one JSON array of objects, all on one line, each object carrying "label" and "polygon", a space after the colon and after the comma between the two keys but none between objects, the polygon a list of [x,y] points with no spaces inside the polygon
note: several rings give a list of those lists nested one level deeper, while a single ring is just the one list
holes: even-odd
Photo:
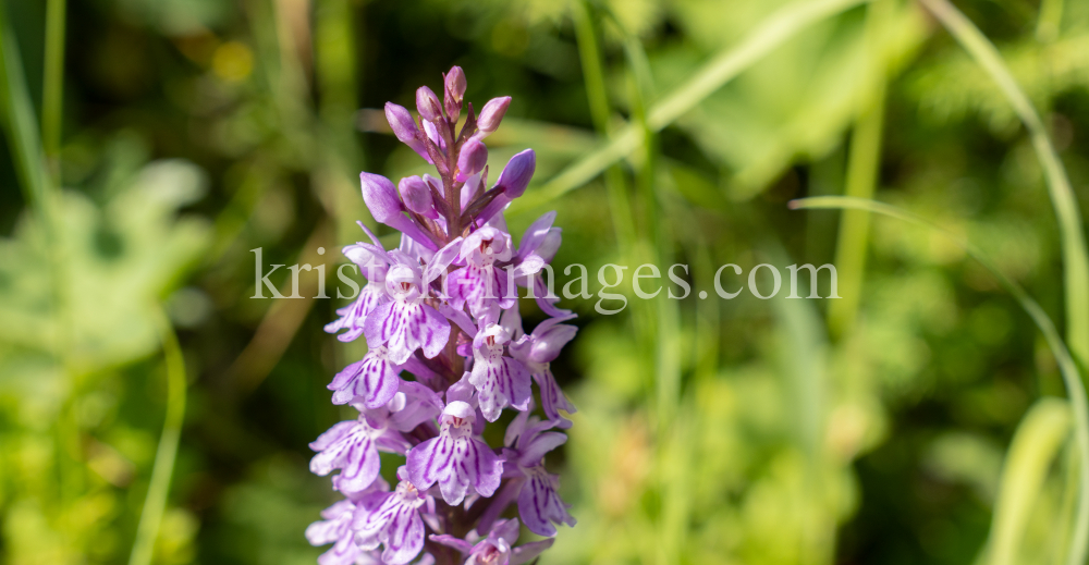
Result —
[{"label": "upper-left open orchid flower with pale hood and petal raised to the right", "polygon": [[424,298],[430,291],[431,281],[453,261],[461,243],[458,237],[446,244],[423,271],[419,263],[404,253],[390,251],[393,266],[386,275],[386,290],[393,299],[367,316],[364,323],[367,345],[386,345],[395,365],[404,364],[416,349],[423,349],[427,358],[442,351],[450,339],[450,322],[424,304]]}]

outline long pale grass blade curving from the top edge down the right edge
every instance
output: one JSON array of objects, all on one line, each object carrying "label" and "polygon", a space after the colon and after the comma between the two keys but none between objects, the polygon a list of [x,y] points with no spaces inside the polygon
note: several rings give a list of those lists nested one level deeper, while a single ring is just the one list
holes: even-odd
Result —
[{"label": "long pale grass blade curving from the top edge down the right edge", "polygon": [[1048,191],[1063,242],[1063,267],[1066,291],[1066,341],[1070,353],[1081,367],[1089,366],[1089,253],[1085,232],[1081,231],[1081,212],[1078,209],[1066,170],[1055,152],[1048,131],[1032,102],[1014,79],[999,50],[946,0],[921,0],[922,4],[949,29],[950,34],[968,51],[999,86],[1014,112],[1028,130],[1032,148],[1043,167]]}]

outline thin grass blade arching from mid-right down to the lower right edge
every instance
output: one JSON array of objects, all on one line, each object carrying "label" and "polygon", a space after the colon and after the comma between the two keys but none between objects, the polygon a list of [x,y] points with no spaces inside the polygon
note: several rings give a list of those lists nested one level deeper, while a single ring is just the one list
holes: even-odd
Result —
[{"label": "thin grass blade arching from mid-right down to the lower right edge", "polygon": [[1062,336],[1060,336],[1059,331],[1055,329],[1055,324],[1052,323],[1051,318],[1043,311],[1043,308],[1020,285],[999,270],[987,258],[987,255],[975,245],[957,237],[947,230],[895,206],[845,196],[820,196],[792,200],[790,207],[791,209],[867,210],[935,230],[991,271],[1002,286],[1013,295],[1020,307],[1032,318],[1032,321],[1040,329],[1044,340],[1048,342],[1048,347],[1051,348],[1051,353],[1055,356],[1055,361],[1063,376],[1063,383],[1066,386],[1066,393],[1069,395],[1070,406],[1074,410],[1081,489],[1078,493],[1077,514],[1074,520],[1074,535],[1070,539],[1069,551],[1067,552],[1067,563],[1070,565],[1084,564],[1087,549],[1089,549],[1089,401],[1086,400],[1086,390],[1078,376],[1078,366],[1070,356],[1070,352],[1066,348],[1066,344],[1063,342]]}]

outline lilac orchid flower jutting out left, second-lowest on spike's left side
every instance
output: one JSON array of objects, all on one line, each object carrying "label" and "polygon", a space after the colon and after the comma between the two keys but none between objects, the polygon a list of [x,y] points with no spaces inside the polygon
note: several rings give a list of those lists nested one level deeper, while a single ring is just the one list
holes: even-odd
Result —
[{"label": "lilac orchid flower jutting out left, second-lowest on spike's left side", "polygon": [[345,490],[362,491],[378,478],[379,451],[404,454],[409,446],[397,431],[375,427],[360,414],[354,420],[334,425],[310,443],[310,449],[318,452],[310,459],[310,472],[323,477],[341,469],[340,484]]}]

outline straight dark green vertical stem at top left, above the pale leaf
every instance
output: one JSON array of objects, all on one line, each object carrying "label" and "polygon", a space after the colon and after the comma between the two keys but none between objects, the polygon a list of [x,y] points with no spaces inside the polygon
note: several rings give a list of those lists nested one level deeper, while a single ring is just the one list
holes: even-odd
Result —
[{"label": "straight dark green vertical stem at top left, above the pale leaf", "polygon": [[68,0],[49,0],[46,8],[46,70],[41,95],[41,137],[46,160],[59,183],[58,158],[64,103],[64,16]]}]

